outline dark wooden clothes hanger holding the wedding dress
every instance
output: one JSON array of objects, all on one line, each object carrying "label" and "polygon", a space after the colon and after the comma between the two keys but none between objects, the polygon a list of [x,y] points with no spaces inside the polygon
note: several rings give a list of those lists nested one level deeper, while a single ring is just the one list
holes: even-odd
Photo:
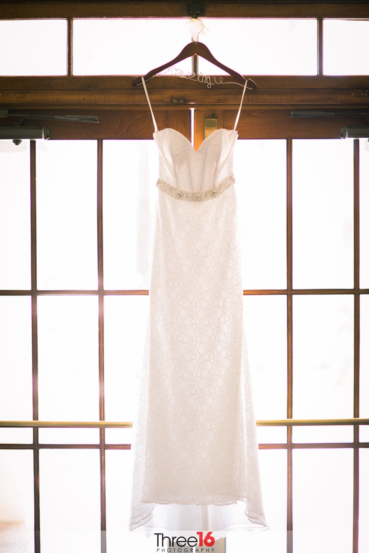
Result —
[{"label": "dark wooden clothes hanger holding the wedding dress", "polygon": [[[143,78],[145,81],[147,81],[148,79],[151,79],[151,77],[153,77],[154,75],[157,75],[158,73],[160,73],[160,71],[164,71],[164,69],[168,69],[168,67],[171,67],[172,65],[175,65],[179,61],[185,60],[186,58],[191,58],[195,54],[197,54],[198,56],[201,56],[201,58],[204,58],[207,61],[210,61],[211,64],[216,65],[217,67],[220,67],[220,69],[222,69],[223,71],[226,71],[228,75],[231,75],[237,81],[240,81],[240,84],[245,85],[245,82],[246,82],[245,77],[242,77],[242,75],[237,73],[237,71],[230,69],[230,67],[227,67],[226,65],[221,64],[220,61],[214,58],[209,48],[207,48],[207,46],[204,43],[198,42],[198,41],[190,42],[189,44],[187,44],[184,47],[184,49],[178,54],[178,56],[174,58],[174,60],[168,61],[167,64],[164,64],[164,65],[161,65],[160,67],[156,67],[155,69],[152,69]],[[141,76],[136,77],[132,81],[132,85],[141,85],[141,84],[142,84]],[[251,79],[247,79],[247,84],[250,86],[247,86],[246,88],[257,90],[256,83]]]}]

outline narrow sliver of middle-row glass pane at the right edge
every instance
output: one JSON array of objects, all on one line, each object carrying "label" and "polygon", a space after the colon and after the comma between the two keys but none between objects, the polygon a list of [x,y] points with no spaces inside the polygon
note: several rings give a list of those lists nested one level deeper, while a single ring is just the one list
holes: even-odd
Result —
[{"label": "narrow sliver of middle-row glass pane at the right edge", "polygon": [[[369,296],[360,296],[360,416],[369,418]],[[369,426],[360,426],[360,441],[369,442]]]}]

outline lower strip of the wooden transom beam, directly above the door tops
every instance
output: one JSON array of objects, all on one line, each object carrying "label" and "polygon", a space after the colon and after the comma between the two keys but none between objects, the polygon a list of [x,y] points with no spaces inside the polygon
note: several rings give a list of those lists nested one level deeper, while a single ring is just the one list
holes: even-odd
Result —
[{"label": "lower strip of the wooden transom beam, directly above the door tops", "polygon": [[[369,77],[368,77],[369,80]],[[136,90],[64,90],[44,88],[43,90],[13,90],[0,89],[1,109],[146,109],[147,100],[142,91]],[[271,108],[305,107],[323,108],[334,106],[335,109],[369,107],[369,84],[367,88],[325,88],[325,89],[261,89],[254,94],[245,95],[244,103],[248,107]],[[242,91],[241,91],[242,92]],[[154,109],[238,109],[240,105],[240,90],[181,90],[180,96],[186,98],[186,103],[174,106],[173,100],[179,96],[179,91],[162,89],[150,93],[150,102]],[[245,109],[245,108],[243,108]]]}]

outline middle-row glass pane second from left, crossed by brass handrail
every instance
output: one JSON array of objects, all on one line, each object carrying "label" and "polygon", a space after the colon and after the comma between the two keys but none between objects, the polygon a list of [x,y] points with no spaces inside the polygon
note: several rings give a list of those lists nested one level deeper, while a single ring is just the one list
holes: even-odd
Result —
[{"label": "middle-row glass pane second from left, crossed by brass handrail", "polygon": [[[38,361],[40,420],[98,420],[96,296],[39,296]],[[76,434],[90,441],[90,429],[65,430],[67,443]]]}]

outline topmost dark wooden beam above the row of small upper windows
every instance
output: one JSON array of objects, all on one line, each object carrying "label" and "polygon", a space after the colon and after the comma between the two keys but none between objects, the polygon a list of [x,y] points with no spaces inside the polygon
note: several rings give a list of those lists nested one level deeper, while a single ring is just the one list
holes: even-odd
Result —
[{"label": "topmost dark wooden beam above the row of small upper windows", "polygon": [[[204,2],[201,17],[367,18],[366,1],[350,2]],[[2,2],[0,19],[89,17],[188,17],[186,2]]]}]

